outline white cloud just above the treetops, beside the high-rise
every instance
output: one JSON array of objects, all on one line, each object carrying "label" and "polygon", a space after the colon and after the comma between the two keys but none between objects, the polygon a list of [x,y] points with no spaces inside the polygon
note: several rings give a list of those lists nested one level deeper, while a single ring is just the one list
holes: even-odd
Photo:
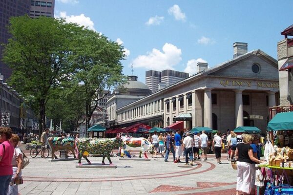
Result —
[{"label": "white cloud just above the treetops, beside the high-rise", "polygon": [[88,27],[90,30],[96,31],[94,27],[94,22],[90,20],[89,17],[84,16],[84,14],[81,14],[79,16],[67,16],[66,12],[60,12],[60,18],[64,18],[66,22],[72,22],[77,23],[78,25]]}]

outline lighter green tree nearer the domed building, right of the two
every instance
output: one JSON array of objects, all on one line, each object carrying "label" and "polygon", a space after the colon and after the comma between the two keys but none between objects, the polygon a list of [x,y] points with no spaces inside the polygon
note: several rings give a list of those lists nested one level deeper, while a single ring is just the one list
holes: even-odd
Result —
[{"label": "lighter green tree nearer the domed building, right of the two", "polygon": [[125,55],[122,46],[88,29],[79,33],[73,45],[70,60],[76,72],[72,78],[82,87],[87,129],[98,101],[104,98],[99,98],[98,94],[105,89],[109,93],[111,88],[125,82],[121,65]]}]

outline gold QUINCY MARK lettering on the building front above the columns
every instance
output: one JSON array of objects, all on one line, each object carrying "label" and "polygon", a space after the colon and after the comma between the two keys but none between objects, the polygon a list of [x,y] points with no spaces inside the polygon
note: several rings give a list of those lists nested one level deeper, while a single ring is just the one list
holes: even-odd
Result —
[{"label": "gold QUINCY MARK lettering on the building front above the columns", "polygon": [[[224,87],[227,86],[237,86],[237,87],[251,87],[251,81],[239,81],[239,80],[221,80],[220,84]],[[278,83],[266,83],[266,82],[256,82],[257,87],[262,88],[279,88]]]}]

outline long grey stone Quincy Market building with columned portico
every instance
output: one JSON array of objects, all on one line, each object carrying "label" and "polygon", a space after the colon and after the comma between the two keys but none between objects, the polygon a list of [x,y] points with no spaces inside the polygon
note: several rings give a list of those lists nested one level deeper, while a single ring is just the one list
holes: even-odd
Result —
[{"label": "long grey stone Quincy Market building with columned portico", "polygon": [[255,126],[264,132],[269,107],[279,104],[278,62],[261,50],[247,52],[247,43],[233,46],[232,60],[209,69],[198,63],[197,74],[117,109],[116,127],[167,127],[184,114],[187,129]]}]

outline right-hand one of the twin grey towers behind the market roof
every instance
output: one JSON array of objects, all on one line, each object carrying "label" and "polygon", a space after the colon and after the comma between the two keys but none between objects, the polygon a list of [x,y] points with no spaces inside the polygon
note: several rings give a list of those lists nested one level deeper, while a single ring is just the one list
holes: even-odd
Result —
[{"label": "right-hand one of the twin grey towers behind the market roof", "polygon": [[166,83],[167,87],[173,85],[183,79],[188,78],[189,74],[186,72],[179,72],[176,70],[163,70],[162,71],[162,83]]}]

